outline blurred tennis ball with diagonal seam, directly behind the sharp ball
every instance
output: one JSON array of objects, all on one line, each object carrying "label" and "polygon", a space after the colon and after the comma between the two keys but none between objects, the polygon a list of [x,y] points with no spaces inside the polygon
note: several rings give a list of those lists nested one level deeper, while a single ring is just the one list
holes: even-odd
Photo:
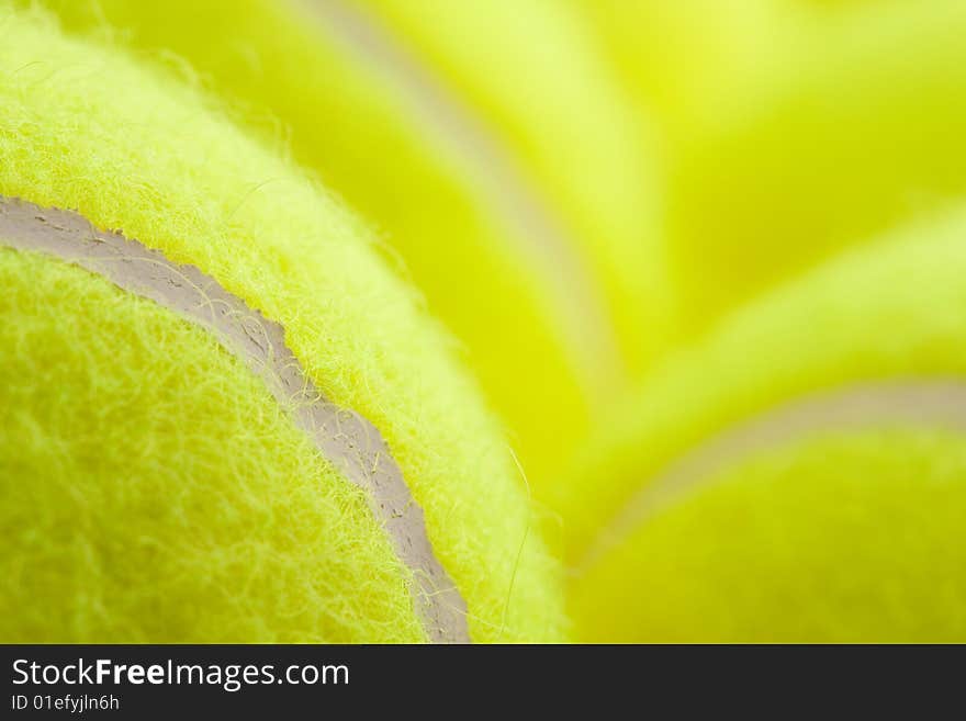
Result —
[{"label": "blurred tennis ball with diagonal seam, directly behind the sharp ball", "polygon": [[659,345],[649,148],[576,9],[45,4],[72,32],[196,72],[371,218],[463,345],[537,495],[642,365],[640,329]]}]

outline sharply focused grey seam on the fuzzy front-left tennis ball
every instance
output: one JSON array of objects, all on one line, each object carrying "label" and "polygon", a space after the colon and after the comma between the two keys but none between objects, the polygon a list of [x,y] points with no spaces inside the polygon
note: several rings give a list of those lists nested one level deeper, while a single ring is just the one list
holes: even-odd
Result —
[{"label": "sharply focused grey seam on the fuzzy front-left tennis ball", "polygon": [[379,430],[322,395],[285,345],[283,328],[194,266],[116,233],[102,233],[77,213],[0,196],[0,247],[54,256],[154,301],[212,333],[268,385],[324,458],[362,487],[398,559],[415,578],[414,605],[427,636],[469,643],[467,604],[436,557],[423,509],[406,486]]}]

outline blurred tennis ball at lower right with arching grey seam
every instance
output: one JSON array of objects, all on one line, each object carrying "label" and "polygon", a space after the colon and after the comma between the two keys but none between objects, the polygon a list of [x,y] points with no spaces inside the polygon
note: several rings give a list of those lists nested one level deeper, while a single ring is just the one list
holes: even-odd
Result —
[{"label": "blurred tennis ball at lower right with arching grey seam", "polygon": [[763,296],[602,424],[559,486],[582,639],[966,639],[964,233]]}]

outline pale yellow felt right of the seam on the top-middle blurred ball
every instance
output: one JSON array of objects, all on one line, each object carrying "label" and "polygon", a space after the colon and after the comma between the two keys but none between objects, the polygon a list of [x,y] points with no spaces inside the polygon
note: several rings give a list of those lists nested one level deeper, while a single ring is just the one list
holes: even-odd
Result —
[{"label": "pale yellow felt right of the seam on the top-middle blurred ball", "polygon": [[662,345],[666,280],[654,149],[580,9],[555,0],[350,4],[394,33],[518,159],[598,279],[625,364],[647,367]]}]

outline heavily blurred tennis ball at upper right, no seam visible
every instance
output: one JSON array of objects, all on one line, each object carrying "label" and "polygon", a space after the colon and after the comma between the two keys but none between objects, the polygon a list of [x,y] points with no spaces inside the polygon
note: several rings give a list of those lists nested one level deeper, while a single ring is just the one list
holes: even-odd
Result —
[{"label": "heavily blurred tennis ball at upper right, no seam visible", "polygon": [[669,161],[666,259],[687,338],[966,191],[966,5],[856,4],[820,20]]}]

